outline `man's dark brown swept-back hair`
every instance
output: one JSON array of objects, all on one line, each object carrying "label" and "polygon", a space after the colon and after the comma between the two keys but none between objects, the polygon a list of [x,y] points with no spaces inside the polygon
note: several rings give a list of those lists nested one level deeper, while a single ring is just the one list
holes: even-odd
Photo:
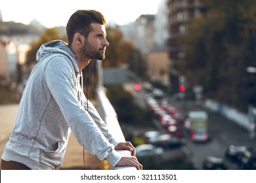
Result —
[{"label": "man's dark brown swept-back hair", "polygon": [[73,42],[75,33],[81,33],[81,35],[83,35],[85,38],[88,37],[90,31],[92,31],[90,29],[91,23],[105,25],[105,16],[96,10],[77,10],[71,15],[66,26],[67,41],[69,46]]}]

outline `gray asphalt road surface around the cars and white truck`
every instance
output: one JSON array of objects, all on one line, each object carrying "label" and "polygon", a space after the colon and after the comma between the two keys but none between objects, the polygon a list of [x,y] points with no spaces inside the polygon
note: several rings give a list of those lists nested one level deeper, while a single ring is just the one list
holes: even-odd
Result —
[{"label": "gray asphalt road surface around the cars and white truck", "polygon": [[[147,108],[143,98],[147,94],[145,90],[141,89],[139,92],[132,90],[133,84],[130,83],[126,85],[126,89],[130,88],[130,92],[136,97],[136,102],[143,108]],[[225,150],[227,150],[230,144],[233,145],[244,145],[248,147],[253,147],[256,150],[256,138],[251,139],[249,132],[242,126],[232,122],[231,120],[221,116],[221,114],[216,112],[211,112],[202,105],[196,105],[195,101],[184,100],[184,99],[174,99],[170,95],[164,95],[163,97],[168,101],[170,105],[179,108],[179,111],[187,114],[191,110],[205,110],[208,112],[208,130],[211,137],[211,141],[204,143],[192,142],[189,137],[189,132],[185,134],[185,139],[187,139],[187,148],[192,154],[192,162],[196,169],[202,169],[202,161],[206,156],[217,156],[225,158]],[[158,100],[159,102],[161,99]],[[156,129],[162,130],[159,124],[156,124]],[[185,131],[186,132],[186,131]],[[229,169],[238,169],[238,165],[228,159]]]}]

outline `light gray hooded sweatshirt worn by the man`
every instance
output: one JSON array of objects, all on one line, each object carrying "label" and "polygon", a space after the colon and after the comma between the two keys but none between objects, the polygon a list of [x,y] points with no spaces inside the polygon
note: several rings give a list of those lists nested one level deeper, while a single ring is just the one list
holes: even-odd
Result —
[{"label": "light gray hooded sweatshirt worn by the man", "polygon": [[[31,169],[60,169],[71,131],[77,141],[112,165],[118,142],[81,90],[78,61],[65,42],[43,44],[20,101],[2,158]],[[82,158],[81,158],[82,161]]]}]

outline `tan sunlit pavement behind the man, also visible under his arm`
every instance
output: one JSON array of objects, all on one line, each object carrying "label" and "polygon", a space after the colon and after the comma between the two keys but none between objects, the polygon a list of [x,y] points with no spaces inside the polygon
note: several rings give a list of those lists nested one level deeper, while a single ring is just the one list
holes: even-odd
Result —
[{"label": "tan sunlit pavement behind the man, also visible under his arm", "polygon": [[[0,105],[0,155],[2,156],[5,144],[9,140],[12,126],[18,111],[18,104]],[[104,169],[104,165],[96,156],[92,156],[85,151],[85,169]],[[0,160],[1,161],[1,160]],[[62,169],[83,169],[83,150],[82,146],[77,142],[73,134],[69,138],[67,151],[65,153]]]}]

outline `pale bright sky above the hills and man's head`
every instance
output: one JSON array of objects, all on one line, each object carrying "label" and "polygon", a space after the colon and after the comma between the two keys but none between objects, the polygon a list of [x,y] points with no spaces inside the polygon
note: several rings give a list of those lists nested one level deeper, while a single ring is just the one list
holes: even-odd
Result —
[{"label": "pale bright sky above the hills and man's head", "polygon": [[79,9],[102,12],[107,22],[119,25],[134,22],[141,14],[156,14],[161,0],[1,0],[0,10],[4,22],[29,24],[36,19],[46,27],[66,25]]}]

